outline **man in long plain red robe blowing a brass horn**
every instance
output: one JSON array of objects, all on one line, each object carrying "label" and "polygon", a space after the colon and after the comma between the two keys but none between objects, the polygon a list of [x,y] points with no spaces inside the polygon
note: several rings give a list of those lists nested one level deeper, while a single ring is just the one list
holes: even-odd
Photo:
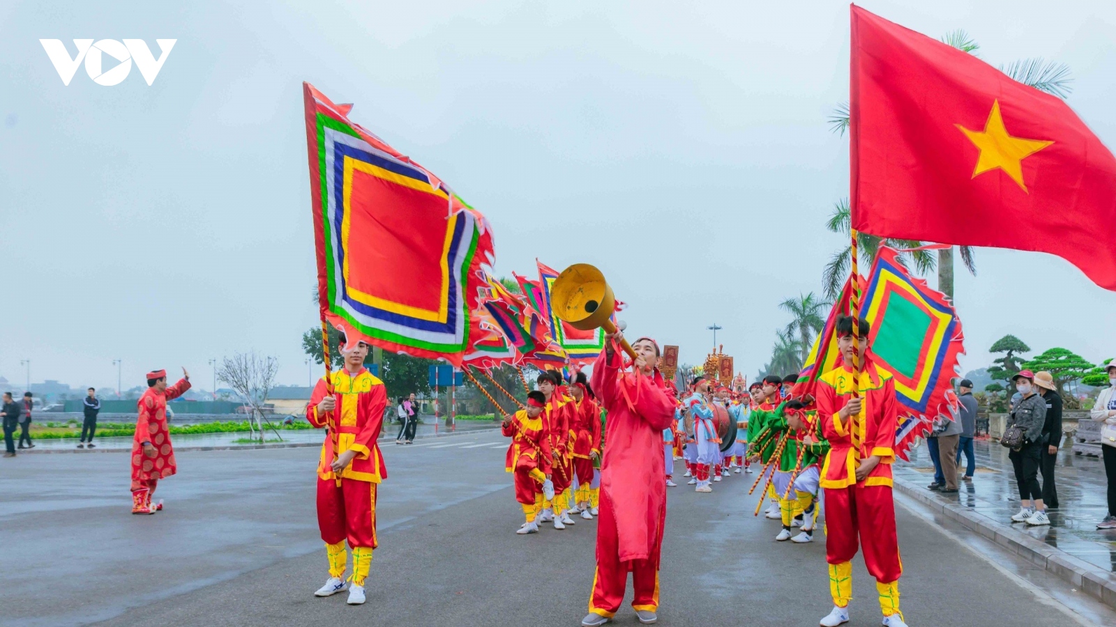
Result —
[{"label": "man in long plain red robe blowing a brass horn", "polygon": [[675,399],[655,367],[658,345],[639,338],[633,345],[633,372],[623,370],[615,350],[623,336],[605,336],[605,350],[593,366],[593,389],[608,412],[600,466],[597,571],[583,627],[612,620],[624,600],[632,572],[632,607],[639,623],[657,620],[658,559],[666,523],[663,430],[674,422]]}]

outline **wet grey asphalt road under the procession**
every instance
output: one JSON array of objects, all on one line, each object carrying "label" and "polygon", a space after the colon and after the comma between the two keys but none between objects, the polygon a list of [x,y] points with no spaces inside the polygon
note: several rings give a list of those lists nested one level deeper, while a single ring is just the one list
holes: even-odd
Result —
[{"label": "wet grey asphalt road under the procession", "polygon": [[[183,453],[157,493],[166,510],[152,517],[128,514],[126,454],[0,460],[0,625],[574,627],[596,522],[516,536],[504,442],[487,433],[385,446],[381,549],[359,607],[312,596],[326,578],[316,450]],[[670,489],[660,624],[811,626],[829,610],[824,537],[776,542],[778,524],[752,517],[750,476],[713,494]],[[901,507],[897,518],[912,626],[1116,619],[920,512]],[[875,587],[854,565],[850,625],[879,625]],[[636,625],[629,608],[617,624]]]}]

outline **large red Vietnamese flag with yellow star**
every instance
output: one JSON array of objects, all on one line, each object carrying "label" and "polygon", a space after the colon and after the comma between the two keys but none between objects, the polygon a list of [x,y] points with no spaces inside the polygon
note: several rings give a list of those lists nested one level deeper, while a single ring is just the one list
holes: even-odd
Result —
[{"label": "large red Vietnamese flag with yellow star", "polygon": [[1116,158],[1060,98],[854,6],[853,228],[1057,254],[1116,290]]}]

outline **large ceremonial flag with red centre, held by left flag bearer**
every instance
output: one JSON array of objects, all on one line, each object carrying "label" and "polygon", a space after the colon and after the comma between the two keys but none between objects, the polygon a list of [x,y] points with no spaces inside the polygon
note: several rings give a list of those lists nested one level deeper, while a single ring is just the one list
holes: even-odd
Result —
[{"label": "large ceremonial flag with red centre, held by left flag bearer", "polygon": [[302,84],[321,316],[349,343],[461,364],[478,338],[484,218]]}]

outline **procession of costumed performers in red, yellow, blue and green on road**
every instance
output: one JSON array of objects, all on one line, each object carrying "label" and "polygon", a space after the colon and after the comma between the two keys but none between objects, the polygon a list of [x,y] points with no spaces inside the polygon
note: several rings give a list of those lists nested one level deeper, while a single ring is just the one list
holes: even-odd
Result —
[{"label": "procession of costumed performers in red, yellow, blue and green on road", "polygon": [[[699,493],[712,492],[712,483],[733,474],[754,475],[753,489],[761,488],[770,501],[766,515],[782,524],[776,540],[810,542],[824,510],[834,607],[820,619],[822,627],[849,619],[850,560],[858,548],[876,579],[883,624],[905,627],[892,501],[894,383],[873,363],[867,326],[859,322],[857,341],[852,329],[852,318],[838,322],[843,363],[809,393],[801,393],[792,377],[776,376],[747,393],[698,377],[680,393],[657,368],[655,340],[644,337],[627,347],[618,332],[606,336],[591,376],[538,375],[537,389],[501,425],[511,438],[506,466],[523,512],[516,532],[528,536],[540,523],[561,530],[577,518],[597,519],[597,566],[584,627],[613,619],[628,572],[638,620],[657,620],[666,490],[676,486],[676,457],[684,460],[689,484]],[[364,367],[367,344],[346,346],[343,335],[338,348],[344,367],[318,382],[306,416],[326,428],[316,499],[328,578],[315,595],[347,590],[347,602],[359,605],[377,547],[377,488],[387,478],[377,444],[387,394]],[[133,513],[161,511],[162,501],[153,502],[152,495],[158,480],[176,472],[165,414],[166,401],[190,387],[189,374],[183,375],[170,386],[165,370],[147,375],[132,456]],[[737,426],[731,442],[721,442],[718,427],[725,416]],[[860,533],[859,521],[867,520],[872,531]]]}]

